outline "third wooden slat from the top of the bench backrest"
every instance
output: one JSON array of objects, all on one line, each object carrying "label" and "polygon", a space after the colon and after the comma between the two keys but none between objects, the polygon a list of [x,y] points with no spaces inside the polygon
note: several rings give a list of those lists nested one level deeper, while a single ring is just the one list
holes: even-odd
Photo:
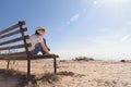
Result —
[{"label": "third wooden slat from the top of the bench backrest", "polygon": [[17,38],[14,38],[14,39],[11,39],[11,40],[7,40],[7,41],[3,41],[3,42],[0,42],[0,46],[12,44],[12,42],[16,42],[16,41],[20,41],[20,40],[23,40],[23,39],[27,39],[27,38],[29,38],[28,35],[24,36],[24,38],[23,37],[17,37]]}]

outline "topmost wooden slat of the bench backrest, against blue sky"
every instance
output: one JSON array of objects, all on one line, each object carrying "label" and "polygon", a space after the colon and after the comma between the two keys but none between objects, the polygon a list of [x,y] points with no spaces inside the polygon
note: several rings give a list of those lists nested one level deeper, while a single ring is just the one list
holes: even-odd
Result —
[{"label": "topmost wooden slat of the bench backrest, against blue sky", "polygon": [[9,28],[1,30],[0,35],[17,28],[20,26],[20,23],[21,23],[21,25],[25,25],[25,21],[21,21],[17,24],[14,24],[14,25],[10,26]]}]

